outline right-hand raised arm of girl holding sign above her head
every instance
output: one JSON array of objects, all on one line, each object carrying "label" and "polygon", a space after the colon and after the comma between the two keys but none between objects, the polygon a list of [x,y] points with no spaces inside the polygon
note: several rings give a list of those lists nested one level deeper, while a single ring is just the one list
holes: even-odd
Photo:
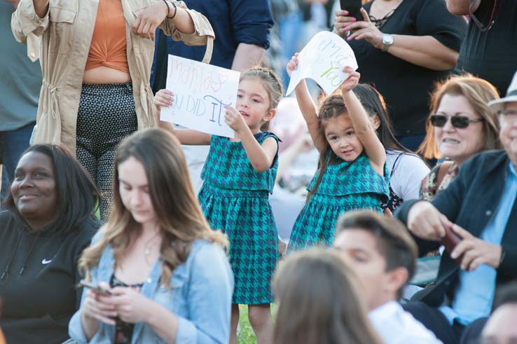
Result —
[{"label": "right-hand raised arm of girl holding sign above her head", "polygon": [[345,67],[343,71],[350,76],[343,81],[341,85],[341,95],[348,109],[348,114],[354,125],[355,135],[364,146],[364,151],[375,171],[381,176],[384,175],[384,164],[386,162],[386,151],[380,142],[375,128],[368,117],[368,113],[364,110],[361,102],[357,99],[352,89],[359,83],[360,74],[350,67]]}]

